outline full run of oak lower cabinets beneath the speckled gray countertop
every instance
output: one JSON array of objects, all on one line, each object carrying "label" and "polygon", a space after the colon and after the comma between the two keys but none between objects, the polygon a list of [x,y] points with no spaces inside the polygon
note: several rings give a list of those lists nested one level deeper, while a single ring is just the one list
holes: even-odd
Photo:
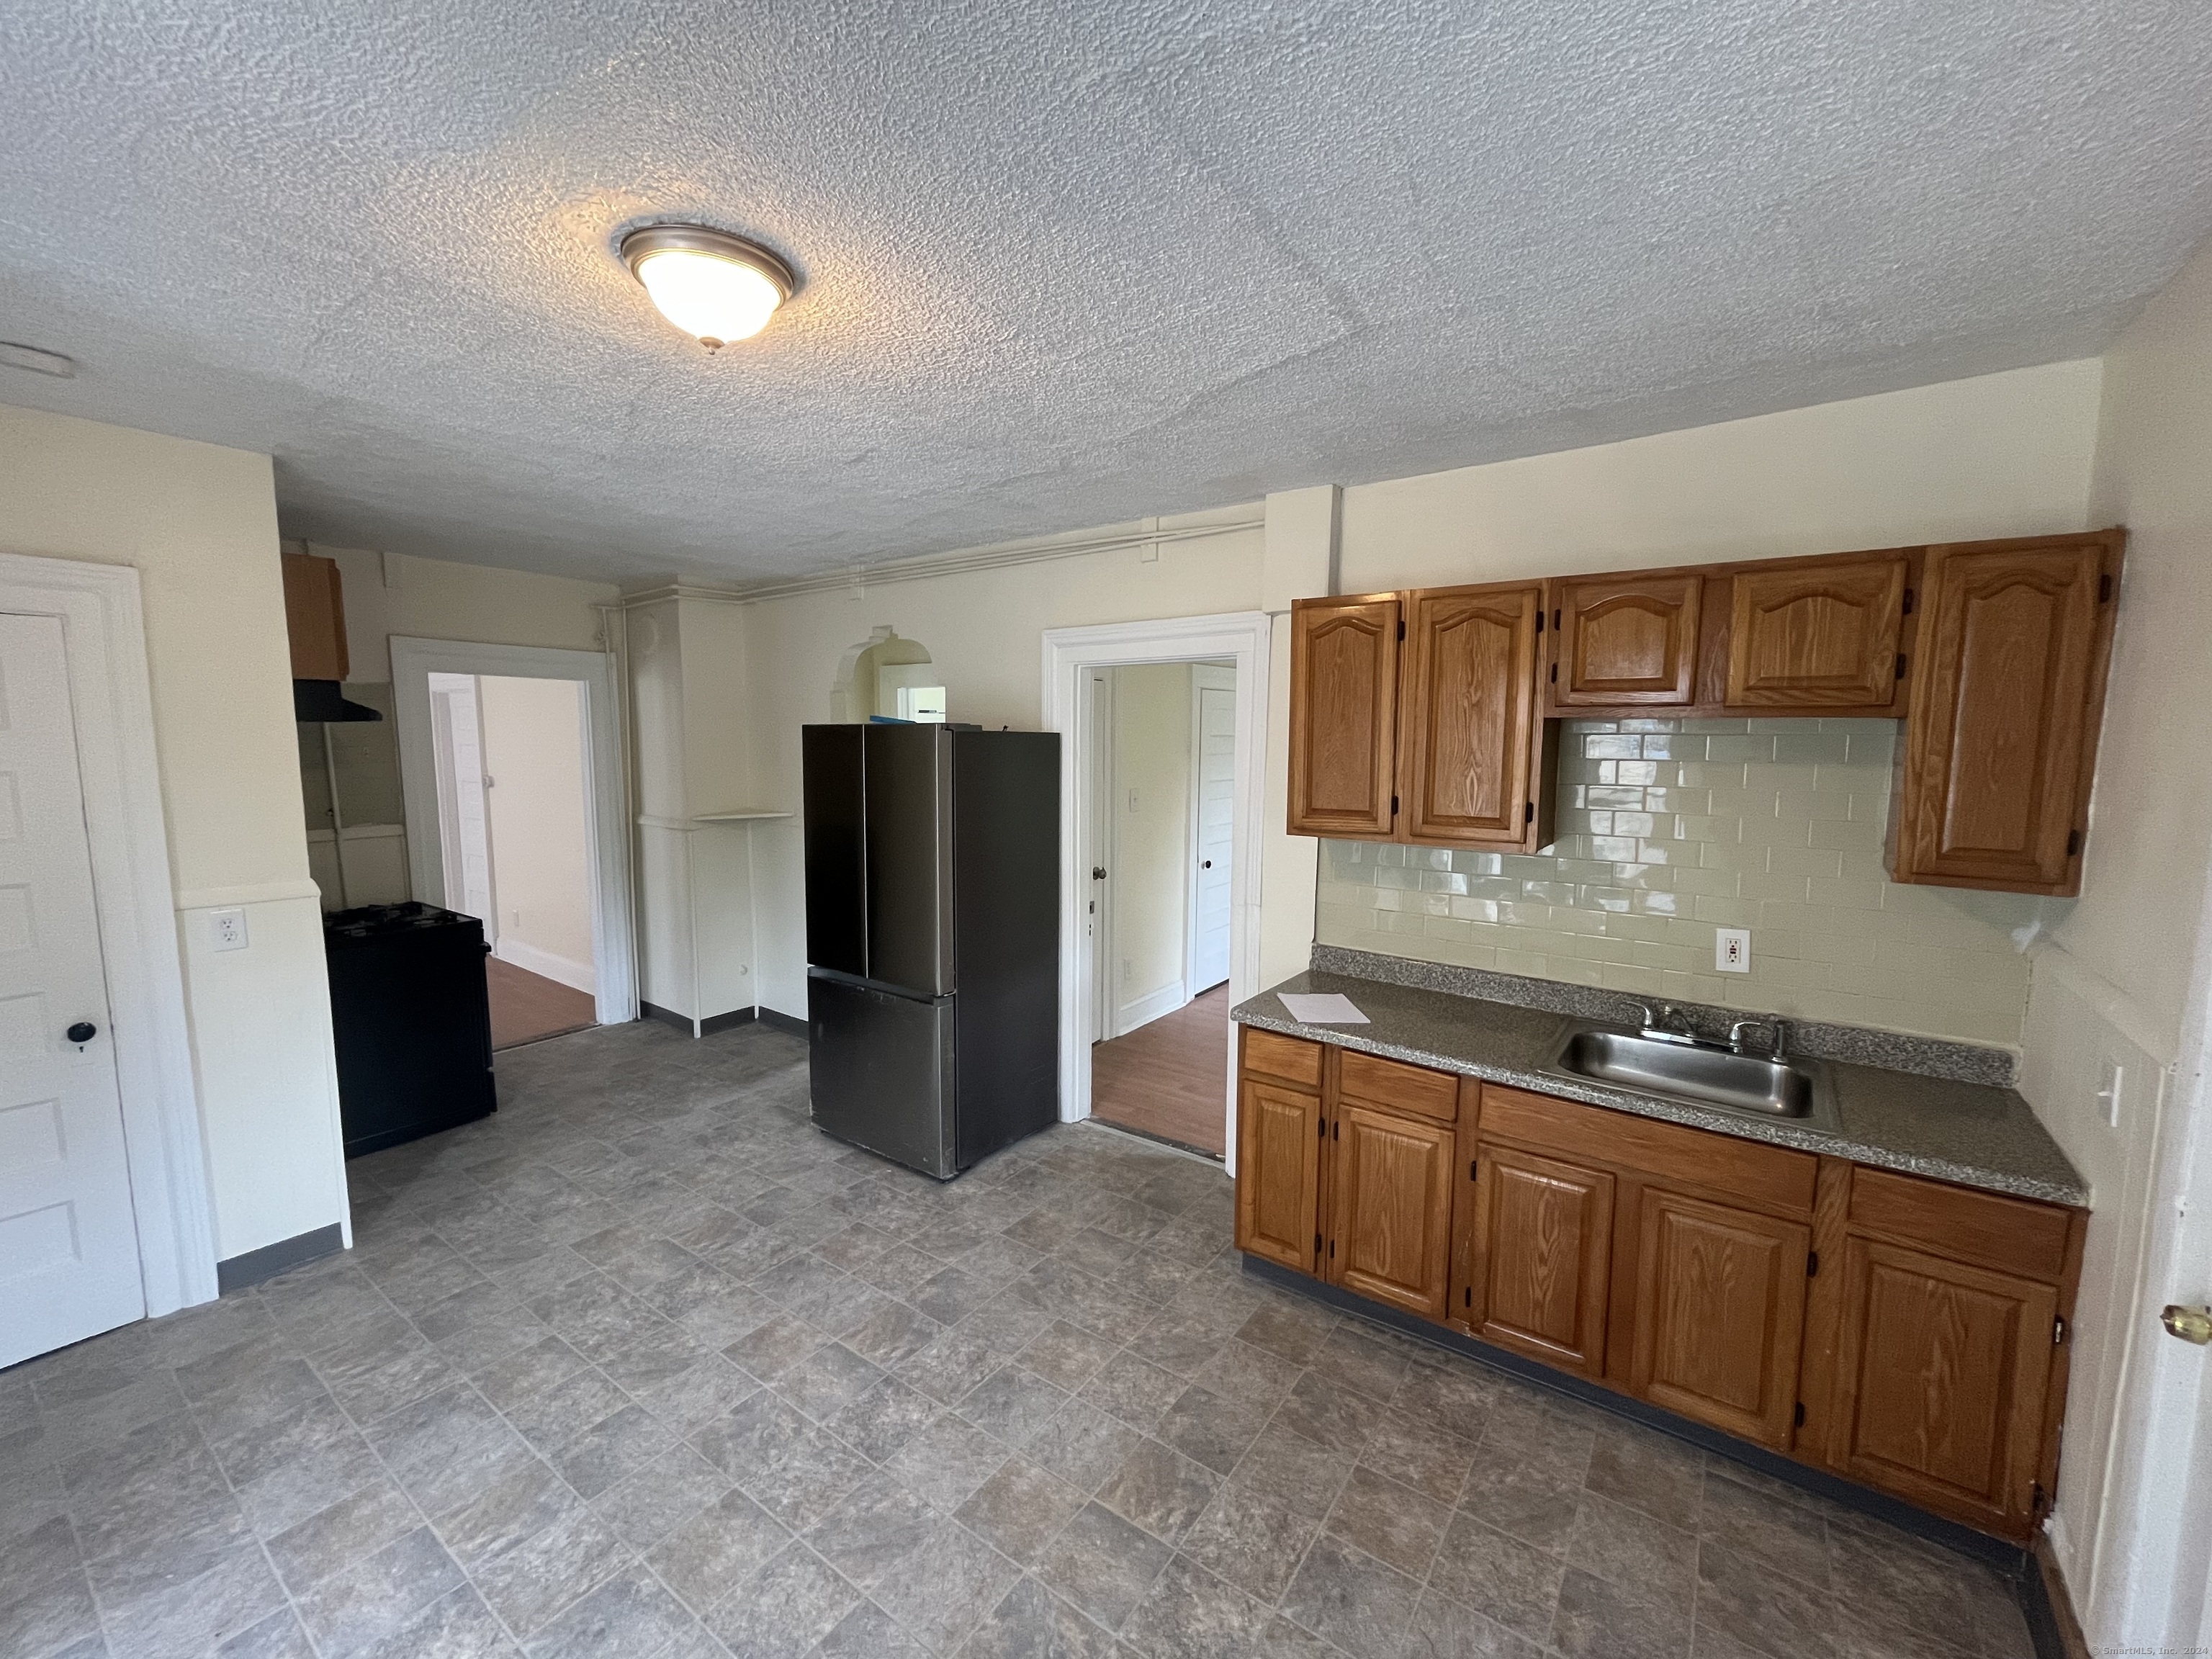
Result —
[{"label": "full run of oak lower cabinets beneath the speckled gray countertop", "polygon": [[2081,1210],[1259,1035],[1241,1250],[2033,1537]]}]

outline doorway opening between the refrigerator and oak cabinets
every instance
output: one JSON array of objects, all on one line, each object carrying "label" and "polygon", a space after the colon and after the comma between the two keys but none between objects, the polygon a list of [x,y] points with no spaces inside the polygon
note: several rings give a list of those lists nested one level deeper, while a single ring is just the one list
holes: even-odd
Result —
[{"label": "doorway opening between the refrigerator and oak cabinets", "polygon": [[1237,664],[1084,672],[1091,1115],[1219,1159],[1228,1144]]}]

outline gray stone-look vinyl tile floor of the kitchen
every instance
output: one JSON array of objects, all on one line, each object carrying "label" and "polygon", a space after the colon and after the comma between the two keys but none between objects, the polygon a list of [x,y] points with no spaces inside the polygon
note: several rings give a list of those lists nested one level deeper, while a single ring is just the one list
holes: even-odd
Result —
[{"label": "gray stone-look vinyl tile floor of the kitchen", "polygon": [[2026,1659],[1984,1566],[1239,1274],[1212,1166],[949,1186],[608,1026],[354,1250],[0,1374],[0,1659]]}]

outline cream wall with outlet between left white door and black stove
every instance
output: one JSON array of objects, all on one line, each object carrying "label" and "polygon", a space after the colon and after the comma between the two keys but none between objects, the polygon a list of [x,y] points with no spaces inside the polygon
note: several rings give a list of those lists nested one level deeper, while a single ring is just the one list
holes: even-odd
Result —
[{"label": "cream wall with outlet between left white door and black stove", "polygon": [[139,571],[217,1254],[345,1221],[270,458],[0,407],[0,546]]}]

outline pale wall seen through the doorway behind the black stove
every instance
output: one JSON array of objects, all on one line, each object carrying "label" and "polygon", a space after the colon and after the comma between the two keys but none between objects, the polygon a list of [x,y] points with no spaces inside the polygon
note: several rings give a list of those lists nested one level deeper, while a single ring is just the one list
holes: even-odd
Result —
[{"label": "pale wall seen through the doorway behind the black stove", "polygon": [[531,973],[595,987],[584,812],[584,708],[571,679],[482,675],[498,953]]}]

